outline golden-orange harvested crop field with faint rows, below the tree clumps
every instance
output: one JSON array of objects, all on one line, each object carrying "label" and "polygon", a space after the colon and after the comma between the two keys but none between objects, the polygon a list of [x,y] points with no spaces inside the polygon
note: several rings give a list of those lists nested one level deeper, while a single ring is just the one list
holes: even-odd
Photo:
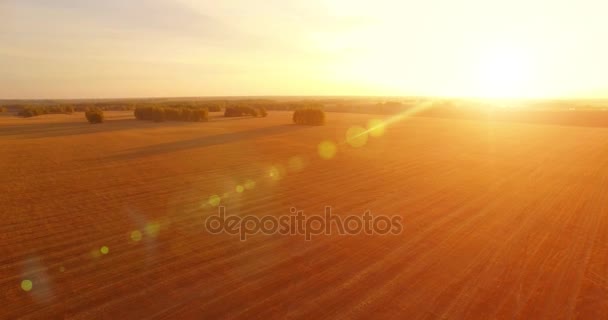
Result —
[{"label": "golden-orange harvested crop field with faint rows, below the tree clumps", "polygon": [[[390,117],[0,115],[0,318],[608,314],[608,128],[406,117],[345,139]],[[205,223],[327,206],[403,228],[241,241]]]}]

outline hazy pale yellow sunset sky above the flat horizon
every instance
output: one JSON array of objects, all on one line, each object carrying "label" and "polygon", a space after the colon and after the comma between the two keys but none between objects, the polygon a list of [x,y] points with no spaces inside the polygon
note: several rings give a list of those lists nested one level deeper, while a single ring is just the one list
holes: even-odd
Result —
[{"label": "hazy pale yellow sunset sky above the flat horizon", "polygon": [[0,0],[0,99],[608,97],[605,0]]}]

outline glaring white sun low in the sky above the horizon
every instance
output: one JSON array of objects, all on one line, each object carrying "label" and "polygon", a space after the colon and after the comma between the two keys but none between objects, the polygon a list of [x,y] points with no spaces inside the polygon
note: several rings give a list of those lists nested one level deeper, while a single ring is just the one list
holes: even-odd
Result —
[{"label": "glaring white sun low in the sky above the horizon", "polygon": [[520,98],[530,94],[531,63],[521,48],[496,46],[483,50],[474,72],[475,95],[482,98]]}]

